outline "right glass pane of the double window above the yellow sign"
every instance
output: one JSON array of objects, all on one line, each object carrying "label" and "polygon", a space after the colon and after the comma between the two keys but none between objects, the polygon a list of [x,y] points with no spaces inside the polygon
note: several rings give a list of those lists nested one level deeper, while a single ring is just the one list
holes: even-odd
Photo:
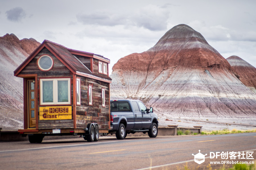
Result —
[{"label": "right glass pane of the double window above the yellow sign", "polygon": [[58,81],[58,102],[68,102],[68,81]]}]

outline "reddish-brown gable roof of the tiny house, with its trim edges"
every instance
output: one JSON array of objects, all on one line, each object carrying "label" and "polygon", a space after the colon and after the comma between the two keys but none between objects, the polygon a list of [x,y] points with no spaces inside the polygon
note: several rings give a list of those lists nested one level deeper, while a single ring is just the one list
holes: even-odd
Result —
[{"label": "reddish-brown gable roof of the tiny house, with its trim edges", "polygon": [[[77,50],[68,49],[62,45],[53,43],[48,40],[44,40],[43,43],[35,50],[33,51],[26,60],[14,71],[14,75],[17,76],[19,72],[22,71],[22,69],[43,49],[47,48],[51,53],[53,53],[54,56],[58,58],[73,74],[79,73],[85,73],[84,75],[90,74],[93,77],[103,78],[111,81],[111,78],[104,77],[95,73],[92,73],[90,69],[88,69],[76,56],[73,54],[78,54],[82,56],[97,58],[100,57],[103,61],[110,61],[107,58],[104,58],[103,56],[97,56],[94,57],[95,54],[93,53],[87,53]],[[72,54],[73,53],[73,54]],[[100,59],[98,59],[100,60]]]}]

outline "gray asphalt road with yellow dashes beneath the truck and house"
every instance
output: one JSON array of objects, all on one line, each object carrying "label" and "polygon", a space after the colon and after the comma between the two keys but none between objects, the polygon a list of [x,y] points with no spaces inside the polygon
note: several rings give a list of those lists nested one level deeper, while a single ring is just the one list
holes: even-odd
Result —
[{"label": "gray asphalt road with yellow dashes beneath the truck and house", "polygon": [[[0,169],[176,169],[198,165],[193,154],[210,152],[256,152],[256,133],[197,136],[100,137],[98,142],[83,138],[43,140],[42,143],[0,142]],[[248,161],[255,161],[256,154]],[[247,159],[243,159],[245,161]]]}]

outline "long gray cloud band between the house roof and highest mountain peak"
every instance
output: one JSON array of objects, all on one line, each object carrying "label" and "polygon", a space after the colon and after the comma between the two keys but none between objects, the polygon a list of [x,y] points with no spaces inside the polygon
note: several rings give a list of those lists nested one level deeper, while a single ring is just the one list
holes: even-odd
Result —
[{"label": "long gray cloud band between the house roof and highest mountain peak", "polygon": [[85,25],[101,26],[136,26],[151,31],[166,30],[167,19],[170,11],[156,5],[147,5],[140,8],[137,12],[129,14],[111,14],[106,12],[97,12],[93,14],[78,14],[77,20]]}]

